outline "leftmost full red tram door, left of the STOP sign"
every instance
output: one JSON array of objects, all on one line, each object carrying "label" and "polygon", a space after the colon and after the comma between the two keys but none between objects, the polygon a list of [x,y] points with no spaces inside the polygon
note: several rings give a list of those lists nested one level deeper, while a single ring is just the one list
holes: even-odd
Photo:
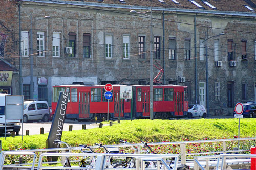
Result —
[{"label": "leftmost full red tram door, left of the STOP sign", "polygon": [[90,111],[90,105],[89,105],[89,98],[90,98],[90,92],[88,91],[80,91],[78,94],[79,99],[79,118],[89,118],[89,111]]}]

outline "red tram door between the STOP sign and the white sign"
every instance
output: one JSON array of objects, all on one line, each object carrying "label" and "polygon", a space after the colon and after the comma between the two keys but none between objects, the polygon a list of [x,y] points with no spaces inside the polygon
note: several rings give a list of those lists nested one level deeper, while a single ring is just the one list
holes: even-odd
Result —
[{"label": "red tram door between the STOP sign and the white sign", "polygon": [[[118,89],[113,90],[114,93],[114,117],[119,117],[119,110],[120,110],[120,117],[123,117],[123,99],[120,99],[120,91]],[[120,101],[119,101],[120,100]]]}]

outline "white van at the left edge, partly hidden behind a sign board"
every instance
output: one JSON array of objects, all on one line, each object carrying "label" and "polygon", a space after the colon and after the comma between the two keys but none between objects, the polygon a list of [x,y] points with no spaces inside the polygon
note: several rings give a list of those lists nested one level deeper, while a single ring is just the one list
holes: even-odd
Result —
[{"label": "white van at the left edge, partly hidden behind a sign board", "polygon": [[[0,94],[0,133],[5,133],[5,96],[8,94]],[[20,131],[19,120],[6,120],[6,132],[15,132],[18,135]]]}]

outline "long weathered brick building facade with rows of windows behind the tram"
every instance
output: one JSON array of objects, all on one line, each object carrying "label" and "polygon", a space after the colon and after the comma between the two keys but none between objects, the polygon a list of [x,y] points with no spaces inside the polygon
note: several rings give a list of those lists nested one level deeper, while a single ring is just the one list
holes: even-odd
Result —
[{"label": "long weathered brick building facade with rows of windows behind the tram", "polygon": [[256,100],[254,0],[7,2],[15,4],[9,19],[15,28],[0,26],[10,35],[3,59],[17,70],[22,59],[12,94],[51,103],[54,85],[148,84],[152,17],[154,65],[164,68],[163,84],[188,86],[189,103],[203,105],[208,84],[210,115],[231,115],[237,102]]}]

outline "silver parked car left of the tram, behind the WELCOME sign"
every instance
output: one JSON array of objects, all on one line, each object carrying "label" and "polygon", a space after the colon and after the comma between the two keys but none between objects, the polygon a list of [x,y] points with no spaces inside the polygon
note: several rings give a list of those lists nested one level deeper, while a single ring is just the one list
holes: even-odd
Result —
[{"label": "silver parked car left of the tram, behind the WELCOME sign", "polygon": [[23,122],[28,122],[29,120],[49,121],[50,109],[47,101],[24,101],[23,111]]}]

